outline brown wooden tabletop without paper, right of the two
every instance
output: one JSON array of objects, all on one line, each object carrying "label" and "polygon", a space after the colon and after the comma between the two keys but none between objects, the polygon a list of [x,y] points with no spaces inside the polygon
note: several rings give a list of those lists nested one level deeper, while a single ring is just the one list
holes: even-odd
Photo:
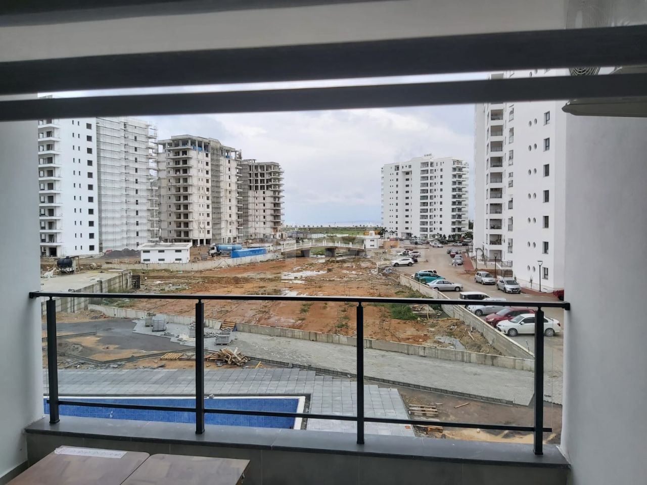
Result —
[{"label": "brown wooden tabletop without paper, right of the two", "polygon": [[249,460],[153,455],[124,485],[240,485],[248,467]]}]

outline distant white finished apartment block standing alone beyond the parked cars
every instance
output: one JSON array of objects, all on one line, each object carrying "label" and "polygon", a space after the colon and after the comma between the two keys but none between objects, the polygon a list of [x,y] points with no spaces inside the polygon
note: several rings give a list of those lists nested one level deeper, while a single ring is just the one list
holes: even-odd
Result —
[{"label": "distant white finished apartment block standing alone beyond the parked cars", "polygon": [[468,164],[428,154],[382,167],[382,225],[397,237],[461,235],[468,227]]}]

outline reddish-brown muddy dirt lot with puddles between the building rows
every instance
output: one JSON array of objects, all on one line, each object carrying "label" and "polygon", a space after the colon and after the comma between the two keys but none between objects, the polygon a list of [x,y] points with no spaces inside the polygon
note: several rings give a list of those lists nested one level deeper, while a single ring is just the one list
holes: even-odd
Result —
[{"label": "reddish-brown muddy dirt lot with puddles between the building rows", "polygon": [[[378,275],[374,261],[365,258],[295,258],[219,268],[202,272],[146,272],[143,293],[256,294],[314,296],[401,296],[415,297],[397,283],[397,276]],[[191,300],[107,301],[111,305],[159,313],[195,314]],[[355,304],[274,301],[206,301],[205,318],[226,322],[255,323],[314,332],[353,336],[356,333]],[[468,332],[461,321],[444,315],[427,319],[410,315],[393,318],[384,305],[364,306],[364,334],[367,338],[458,347],[472,352],[498,354],[477,332]],[[443,337],[444,341],[437,339]],[[457,341],[455,340],[457,339]],[[462,346],[462,347],[461,347]]]}]

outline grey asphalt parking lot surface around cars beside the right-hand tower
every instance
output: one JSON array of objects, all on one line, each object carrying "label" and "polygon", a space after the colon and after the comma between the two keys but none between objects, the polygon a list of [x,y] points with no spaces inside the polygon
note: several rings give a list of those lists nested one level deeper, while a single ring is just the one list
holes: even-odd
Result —
[{"label": "grey asphalt parking lot surface around cars beside the right-hand tower", "polygon": [[[547,294],[546,296],[538,296],[535,294],[504,294],[496,288],[496,285],[481,285],[481,283],[474,282],[474,275],[466,274],[463,266],[452,266],[452,259],[447,254],[447,249],[451,246],[444,248],[430,248],[428,246],[406,246],[407,249],[417,250],[421,252],[421,257],[418,258],[419,263],[413,266],[400,266],[397,271],[400,273],[413,275],[420,270],[435,270],[444,279],[448,279],[452,283],[461,283],[463,291],[475,291],[487,293],[492,297],[505,298],[507,300],[516,301],[556,301],[556,298]],[[457,248],[459,249],[459,248]],[[483,264],[479,263],[479,270],[485,270]],[[494,267],[490,264],[487,268],[492,275],[494,275]],[[449,292],[450,294],[452,292]],[[550,318],[557,319],[562,324],[562,332],[556,334],[554,337],[547,337],[545,341],[545,369],[553,369],[556,377],[562,376],[562,365],[564,362],[564,310],[562,308],[545,308],[545,315]],[[534,349],[534,335],[518,335],[511,337],[514,341],[527,347],[531,350]]]}]

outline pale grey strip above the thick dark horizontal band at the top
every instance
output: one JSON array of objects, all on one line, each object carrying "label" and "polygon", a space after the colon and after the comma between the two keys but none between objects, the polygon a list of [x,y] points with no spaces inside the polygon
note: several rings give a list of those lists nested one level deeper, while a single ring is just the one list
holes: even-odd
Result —
[{"label": "pale grey strip above the thick dark horizontal band at the top", "polygon": [[[469,12],[469,15],[466,15]],[[514,21],[510,21],[514,19]],[[176,32],[178,25],[190,25]],[[0,61],[564,27],[564,2],[408,0],[0,28]],[[241,35],[244,28],[245,35]]]}]

